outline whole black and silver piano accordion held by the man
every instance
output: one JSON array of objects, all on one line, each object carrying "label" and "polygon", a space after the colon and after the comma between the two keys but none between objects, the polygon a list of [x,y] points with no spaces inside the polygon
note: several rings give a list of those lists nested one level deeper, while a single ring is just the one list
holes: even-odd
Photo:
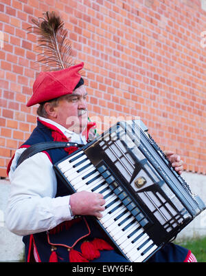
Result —
[{"label": "whole black and silver piano accordion held by the man", "polygon": [[130,262],[146,262],[205,209],[141,120],[117,123],[54,169],[71,193],[104,195],[95,220]]}]

